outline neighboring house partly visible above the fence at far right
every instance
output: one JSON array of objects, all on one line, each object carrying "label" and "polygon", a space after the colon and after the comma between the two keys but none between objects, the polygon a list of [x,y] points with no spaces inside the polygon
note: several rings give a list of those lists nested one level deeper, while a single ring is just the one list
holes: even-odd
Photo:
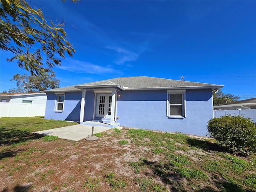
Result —
[{"label": "neighboring house partly visible above the fence at far right", "polygon": [[224,103],[213,106],[214,110],[244,110],[256,109],[256,98]]}]

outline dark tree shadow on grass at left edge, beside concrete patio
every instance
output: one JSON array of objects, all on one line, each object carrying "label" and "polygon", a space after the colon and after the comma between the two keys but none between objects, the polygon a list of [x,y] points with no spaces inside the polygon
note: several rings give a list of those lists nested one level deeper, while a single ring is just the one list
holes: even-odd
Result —
[{"label": "dark tree shadow on grass at left edge, beside concrete patio", "polygon": [[9,130],[5,127],[1,127],[0,142],[1,146],[10,146],[12,144],[18,144],[20,142],[26,142],[27,140],[38,139],[43,137],[40,134],[33,134],[28,130],[12,129]]}]

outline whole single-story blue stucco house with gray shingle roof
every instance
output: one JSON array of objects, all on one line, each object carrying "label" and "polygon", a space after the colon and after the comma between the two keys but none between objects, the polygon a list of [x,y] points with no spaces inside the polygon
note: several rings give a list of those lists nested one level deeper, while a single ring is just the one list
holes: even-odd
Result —
[{"label": "whole single-story blue stucco house with gray shingle roof", "polygon": [[44,118],[206,136],[212,92],[222,87],[146,76],[113,78],[43,91]]}]

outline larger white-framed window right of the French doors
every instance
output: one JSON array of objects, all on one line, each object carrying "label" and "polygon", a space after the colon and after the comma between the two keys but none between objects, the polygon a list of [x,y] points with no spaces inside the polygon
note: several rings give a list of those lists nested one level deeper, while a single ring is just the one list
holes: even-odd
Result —
[{"label": "larger white-framed window right of the French doors", "polygon": [[174,118],[186,117],[186,90],[168,90],[167,116]]}]

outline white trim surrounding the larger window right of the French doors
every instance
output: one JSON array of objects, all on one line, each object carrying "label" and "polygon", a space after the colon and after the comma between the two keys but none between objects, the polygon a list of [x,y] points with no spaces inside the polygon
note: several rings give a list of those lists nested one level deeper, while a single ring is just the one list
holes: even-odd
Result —
[{"label": "white trim surrounding the larger window right of the French doors", "polygon": [[[183,106],[183,114],[182,116],[180,115],[170,115],[170,94],[182,94],[182,106]],[[183,119],[186,117],[186,90],[167,90],[167,105],[166,105],[166,114],[168,118],[179,118],[179,119]]]}]

